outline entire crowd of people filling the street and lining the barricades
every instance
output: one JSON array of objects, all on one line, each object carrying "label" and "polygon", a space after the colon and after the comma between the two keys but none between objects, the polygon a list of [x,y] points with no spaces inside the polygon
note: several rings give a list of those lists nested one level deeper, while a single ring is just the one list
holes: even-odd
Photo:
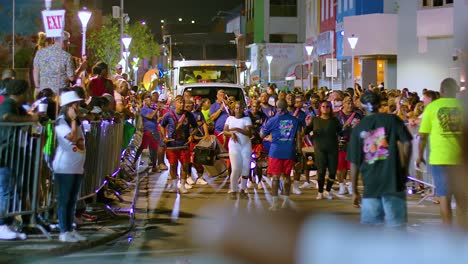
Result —
[{"label": "entire crowd of people filling the street and lining the barricades", "polygon": [[[424,89],[421,97],[407,88],[400,91],[383,85],[344,91],[325,87],[278,91],[272,84],[265,90],[246,87],[246,100],[228,97],[223,90],[217,91],[213,102],[192,96],[190,91],[171,99],[169,93],[131,87],[120,65],[115,67],[114,75],[104,62],[96,63],[89,74],[86,60],[75,67],[64,50],[68,38],[65,34],[47,39],[47,44],[37,49],[33,64],[32,84],[37,99],[47,102],[49,109],[55,109],[59,100],[59,109],[40,113],[33,104],[26,111],[22,95],[28,92],[28,85],[14,80],[12,70],[4,73],[2,87],[6,87],[6,94],[0,101],[1,122],[39,121],[44,116],[56,120],[58,144],[53,168],[58,186],[60,241],[86,239],[71,226],[76,196],[86,173],[80,124],[84,120],[121,122],[137,115],[142,125],[131,126],[142,130],[143,140],[135,163],[149,147],[152,172],[169,170],[169,192],[184,194],[196,184],[207,184],[204,166],[193,153],[201,141],[215,138],[229,153],[229,197],[249,199],[249,188],[271,188],[273,211],[290,207],[291,194],[301,195],[304,189],[314,187],[314,172],[316,199],[352,195],[355,206],[362,206],[363,223],[406,223],[408,175],[423,183],[434,182],[446,224],[452,222],[451,194],[457,194],[457,208],[466,209],[447,172],[459,164],[462,127],[461,104],[455,99],[459,87],[453,79],[444,80],[439,91]],[[420,143],[412,149],[414,140]],[[267,160],[265,173],[252,173],[252,153]],[[420,169],[424,163],[428,165],[425,171]],[[192,167],[196,175],[192,175]],[[359,174],[364,185],[362,197]],[[0,168],[1,181],[8,182],[9,177],[10,168]],[[0,187],[0,199],[5,201],[10,192],[8,184]],[[424,184],[419,187],[430,191]],[[0,209],[6,211],[5,203],[1,205]],[[24,234],[9,229],[8,221],[0,219],[0,239],[18,237]]]}]

